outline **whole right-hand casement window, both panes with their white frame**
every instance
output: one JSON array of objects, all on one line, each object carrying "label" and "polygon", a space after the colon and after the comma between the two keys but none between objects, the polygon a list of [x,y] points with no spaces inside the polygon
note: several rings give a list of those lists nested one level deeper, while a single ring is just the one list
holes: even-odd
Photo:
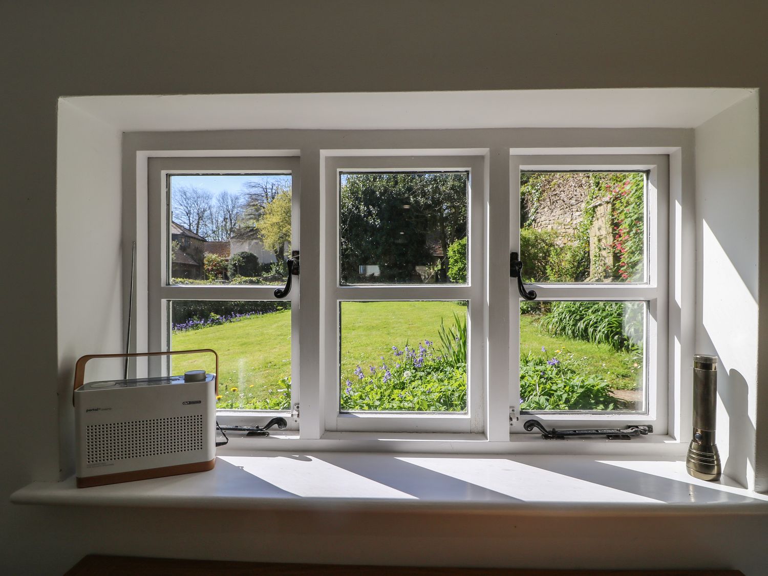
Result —
[{"label": "whole right-hand casement window, both panes with their white frame", "polygon": [[658,426],[666,402],[657,382],[667,379],[666,158],[512,163],[523,277],[538,295],[519,299],[511,394],[521,414],[558,425]]}]

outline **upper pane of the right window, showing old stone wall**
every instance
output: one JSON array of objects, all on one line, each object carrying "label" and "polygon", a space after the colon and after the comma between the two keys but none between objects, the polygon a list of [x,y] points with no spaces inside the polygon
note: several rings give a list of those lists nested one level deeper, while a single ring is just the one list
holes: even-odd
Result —
[{"label": "upper pane of the right window, showing old stone wall", "polygon": [[644,282],[644,172],[523,172],[526,282]]}]

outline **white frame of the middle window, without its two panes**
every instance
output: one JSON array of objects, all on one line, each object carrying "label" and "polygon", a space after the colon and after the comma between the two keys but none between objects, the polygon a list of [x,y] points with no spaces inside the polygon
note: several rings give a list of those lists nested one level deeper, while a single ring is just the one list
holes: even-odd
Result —
[{"label": "white frame of the middle window, without its two panes", "polygon": [[[374,154],[374,152],[372,152]],[[326,431],[482,433],[485,412],[485,165],[478,156],[327,156],[322,192],[325,250],[323,358],[339,358],[339,304],[359,300],[467,300],[467,412],[339,412],[339,362],[325,362]],[[343,172],[468,171],[468,283],[424,285],[339,284],[339,175]],[[398,344],[398,343],[393,343]]]}]

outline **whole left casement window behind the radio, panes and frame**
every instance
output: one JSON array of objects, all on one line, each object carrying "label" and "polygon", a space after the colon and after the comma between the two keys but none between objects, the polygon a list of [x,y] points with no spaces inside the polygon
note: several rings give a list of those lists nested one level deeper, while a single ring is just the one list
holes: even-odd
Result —
[{"label": "whole left casement window behind the radio, panes and frame", "polygon": [[[150,162],[151,346],[217,350],[223,416],[289,412],[299,402],[292,386],[298,287],[274,296],[296,238],[297,167],[293,158]],[[212,372],[213,360],[184,356],[154,366],[196,368]]]}]

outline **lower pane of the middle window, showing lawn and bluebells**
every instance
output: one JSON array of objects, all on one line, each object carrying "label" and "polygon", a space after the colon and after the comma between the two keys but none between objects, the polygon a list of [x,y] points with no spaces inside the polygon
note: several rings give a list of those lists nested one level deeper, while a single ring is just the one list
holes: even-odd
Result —
[{"label": "lower pane of the middle window, showing lawn and bluebells", "polygon": [[341,410],[466,412],[465,301],[343,302]]}]

